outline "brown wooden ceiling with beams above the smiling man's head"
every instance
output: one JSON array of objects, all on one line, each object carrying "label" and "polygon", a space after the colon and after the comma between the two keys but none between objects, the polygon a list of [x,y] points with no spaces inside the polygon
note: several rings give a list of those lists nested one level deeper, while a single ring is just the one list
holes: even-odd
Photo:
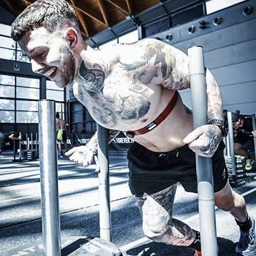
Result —
[{"label": "brown wooden ceiling with beams above the smiling man's head", "polygon": [[[18,16],[28,5],[36,0],[0,0],[7,10]],[[83,37],[92,37],[106,28],[111,28],[125,20],[127,16],[136,15],[158,0],[66,0],[70,3],[79,19]],[[163,0],[166,1],[166,0]]]}]

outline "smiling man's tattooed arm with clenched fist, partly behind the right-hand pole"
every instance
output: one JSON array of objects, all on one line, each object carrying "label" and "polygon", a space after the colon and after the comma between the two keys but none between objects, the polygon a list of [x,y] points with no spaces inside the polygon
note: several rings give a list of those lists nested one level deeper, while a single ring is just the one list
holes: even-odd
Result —
[{"label": "smiling man's tattooed arm with clenched fist, partly behind the right-hand pole", "polygon": [[[190,73],[188,68],[188,56],[171,46],[159,43],[165,53],[165,63],[169,68],[161,66],[163,80],[160,83],[163,87],[173,90],[190,88]],[[166,72],[165,72],[166,70]],[[207,121],[213,119],[223,120],[223,103],[217,82],[209,70],[205,72],[207,91]],[[198,99],[200,100],[200,99]],[[222,132],[217,125],[203,125],[192,133],[189,133],[183,140],[190,148],[200,156],[213,156],[221,142]]]}]

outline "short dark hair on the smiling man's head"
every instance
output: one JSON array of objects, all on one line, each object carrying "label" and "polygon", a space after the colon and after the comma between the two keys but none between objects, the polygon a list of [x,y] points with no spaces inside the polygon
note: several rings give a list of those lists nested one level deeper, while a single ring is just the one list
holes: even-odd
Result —
[{"label": "short dark hair on the smiling man's head", "polygon": [[62,30],[64,26],[78,28],[74,9],[64,0],[37,0],[29,5],[11,26],[11,37],[18,41],[26,32],[44,27],[48,32]]}]

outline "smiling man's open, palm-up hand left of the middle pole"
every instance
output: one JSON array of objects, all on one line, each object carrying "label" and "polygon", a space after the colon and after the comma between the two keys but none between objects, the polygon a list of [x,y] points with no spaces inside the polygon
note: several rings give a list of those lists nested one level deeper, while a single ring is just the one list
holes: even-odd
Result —
[{"label": "smiling man's open, palm-up hand left of the middle pole", "polygon": [[87,167],[93,162],[94,153],[90,150],[89,146],[75,146],[66,152],[65,155],[69,156],[70,160],[74,161],[77,165]]}]

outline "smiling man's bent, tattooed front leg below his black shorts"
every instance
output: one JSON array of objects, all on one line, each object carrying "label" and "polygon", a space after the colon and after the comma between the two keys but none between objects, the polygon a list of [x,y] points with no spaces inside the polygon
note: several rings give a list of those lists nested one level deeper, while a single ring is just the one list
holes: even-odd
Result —
[{"label": "smiling man's bent, tattooed front leg below his black shorts", "polygon": [[187,224],[172,217],[176,188],[174,184],[161,192],[139,197],[137,202],[146,236],[156,242],[188,246],[196,234]]}]

